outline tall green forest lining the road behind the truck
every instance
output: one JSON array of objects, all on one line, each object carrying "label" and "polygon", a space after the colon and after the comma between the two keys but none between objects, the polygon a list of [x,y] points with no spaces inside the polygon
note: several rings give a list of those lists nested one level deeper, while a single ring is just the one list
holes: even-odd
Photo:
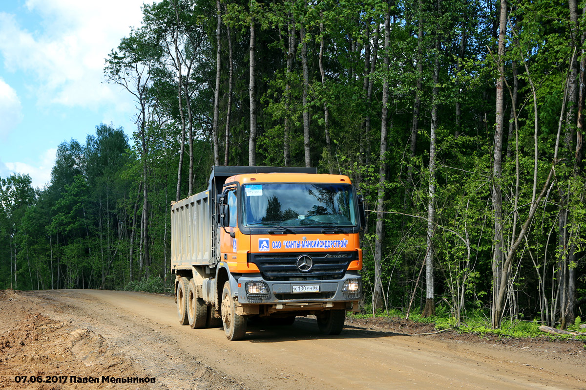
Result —
[{"label": "tall green forest lining the road behind the truck", "polygon": [[[364,196],[364,313],[586,315],[586,5],[162,0],[104,53],[133,129],[0,178],[0,289],[172,291],[169,205],[212,165],[317,167]],[[132,134],[128,137],[126,134]]]}]

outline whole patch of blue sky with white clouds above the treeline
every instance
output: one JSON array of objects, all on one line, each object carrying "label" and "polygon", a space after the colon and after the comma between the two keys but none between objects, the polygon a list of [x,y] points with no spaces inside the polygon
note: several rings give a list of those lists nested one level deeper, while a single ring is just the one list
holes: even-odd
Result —
[{"label": "whole patch of blue sky with white clouds above the treeline", "polygon": [[104,59],[144,0],[0,1],[0,177],[50,181],[57,146],[100,123],[134,130],[134,103],[104,83]]}]

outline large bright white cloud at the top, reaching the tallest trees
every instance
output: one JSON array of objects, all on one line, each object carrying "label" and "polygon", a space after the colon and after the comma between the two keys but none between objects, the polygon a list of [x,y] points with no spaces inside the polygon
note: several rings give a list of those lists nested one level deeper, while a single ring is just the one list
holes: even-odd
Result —
[{"label": "large bright white cloud at the top, reaching the tallest trees", "polygon": [[97,109],[128,100],[103,83],[104,58],[140,25],[142,1],[29,0],[28,11],[42,19],[32,32],[0,12],[5,69],[30,74],[42,105]]}]

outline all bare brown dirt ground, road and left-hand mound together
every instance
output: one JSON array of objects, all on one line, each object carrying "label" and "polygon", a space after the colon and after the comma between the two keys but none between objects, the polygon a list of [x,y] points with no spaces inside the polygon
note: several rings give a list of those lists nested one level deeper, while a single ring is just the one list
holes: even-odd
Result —
[{"label": "all bare brown dirt ground, road and left-hand mound together", "polygon": [[[550,345],[548,345],[550,344]],[[582,348],[584,349],[584,348]],[[22,384],[19,375],[156,378],[149,384]],[[54,380],[53,380],[54,381]],[[586,389],[586,350],[506,347],[315,321],[180,326],[173,297],[126,291],[0,293],[0,388],[7,389]]]}]

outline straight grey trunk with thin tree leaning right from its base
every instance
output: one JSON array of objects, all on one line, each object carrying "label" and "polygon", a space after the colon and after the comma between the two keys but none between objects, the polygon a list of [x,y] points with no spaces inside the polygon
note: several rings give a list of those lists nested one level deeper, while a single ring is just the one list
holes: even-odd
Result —
[{"label": "straight grey trunk with thin tree leaning right from its base", "polygon": [[[492,324],[500,324],[500,318],[496,318],[498,289],[500,286],[502,267],[503,267],[503,199],[500,188],[500,177],[502,173],[502,147],[503,147],[503,116],[504,116],[504,94],[503,88],[505,84],[504,74],[505,66],[503,56],[505,55],[505,33],[506,33],[506,19],[507,18],[507,1],[500,0],[500,26],[499,26],[499,78],[496,82],[496,127],[495,127],[495,144],[492,170],[492,208],[494,215],[494,232],[493,232],[493,304],[492,304]],[[502,312],[502,311],[501,311]],[[499,313],[500,316],[500,313]]]}]

